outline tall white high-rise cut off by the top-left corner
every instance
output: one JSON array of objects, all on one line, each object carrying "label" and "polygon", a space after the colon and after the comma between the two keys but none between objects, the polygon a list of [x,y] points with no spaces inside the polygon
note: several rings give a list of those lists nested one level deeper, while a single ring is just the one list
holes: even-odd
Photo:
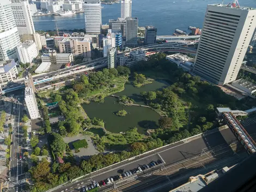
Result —
[{"label": "tall white high-rise cut off by the top-left corner", "polygon": [[16,59],[20,37],[9,0],[0,1],[0,61]]}]

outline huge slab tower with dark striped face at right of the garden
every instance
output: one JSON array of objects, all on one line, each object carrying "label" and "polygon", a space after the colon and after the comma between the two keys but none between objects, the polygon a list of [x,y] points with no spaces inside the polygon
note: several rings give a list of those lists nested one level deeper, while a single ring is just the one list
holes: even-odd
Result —
[{"label": "huge slab tower with dark striped face at right of the garden", "polygon": [[193,72],[218,85],[233,82],[256,25],[256,10],[229,5],[208,5]]}]

